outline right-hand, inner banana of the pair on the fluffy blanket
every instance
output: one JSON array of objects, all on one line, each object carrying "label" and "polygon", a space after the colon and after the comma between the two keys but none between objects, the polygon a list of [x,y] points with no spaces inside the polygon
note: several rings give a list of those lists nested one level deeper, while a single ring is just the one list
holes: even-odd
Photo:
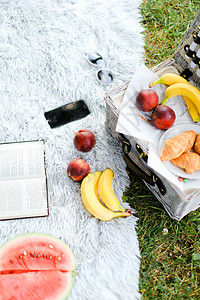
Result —
[{"label": "right-hand, inner banana of the pair on the fluffy blanket", "polygon": [[113,171],[106,169],[100,176],[98,183],[98,190],[101,200],[105,205],[113,211],[125,211],[125,208],[121,206],[119,200],[114,194],[112,188]]}]

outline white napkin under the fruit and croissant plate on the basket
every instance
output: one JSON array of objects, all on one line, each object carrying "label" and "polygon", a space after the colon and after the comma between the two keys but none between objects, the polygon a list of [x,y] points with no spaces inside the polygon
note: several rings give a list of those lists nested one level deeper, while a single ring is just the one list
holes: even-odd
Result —
[{"label": "white napkin under the fruit and croissant plate on the basket", "polygon": [[[189,178],[187,182],[181,182],[178,180],[179,176],[177,174],[168,170],[166,165],[160,160],[158,154],[159,140],[165,131],[157,129],[147,121],[150,118],[151,113],[141,113],[135,106],[135,99],[139,91],[149,89],[150,82],[157,78],[158,77],[144,65],[136,70],[124,94],[116,131],[146,141],[149,146],[148,165],[167,180],[175,184],[179,189],[179,192],[188,194],[194,192],[195,189],[200,189],[200,175],[199,179]],[[164,98],[166,87],[159,84],[152,89],[158,93],[159,101],[161,102]],[[190,124],[194,125],[181,96],[169,99],[166,105],[170,106],[176,114],[176,120],[173,127],[179,124],[187,124],[189,130]],[[188,176],[185,173],[185,178],[187,177]]]}]

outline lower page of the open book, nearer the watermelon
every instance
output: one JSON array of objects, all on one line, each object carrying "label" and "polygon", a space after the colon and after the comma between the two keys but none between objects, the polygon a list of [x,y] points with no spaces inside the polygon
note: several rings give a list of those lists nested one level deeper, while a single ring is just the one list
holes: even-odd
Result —
[{"label": "lower page of the open book, nearer the watermelon", "polygon": [[46,215],[46,178],[0,181],[0,219]]}]

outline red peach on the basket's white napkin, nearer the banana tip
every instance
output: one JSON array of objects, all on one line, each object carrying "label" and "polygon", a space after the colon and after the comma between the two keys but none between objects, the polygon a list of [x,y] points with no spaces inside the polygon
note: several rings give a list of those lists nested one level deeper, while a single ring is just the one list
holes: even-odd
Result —
[{"label": "red peach on the basket's white napkin, nearer the banana tip", "polygon": [[158,94],[152,89],[141,90],[135,99],[136,107],[145,112],[153,110],[158,105],[158,102]]}]

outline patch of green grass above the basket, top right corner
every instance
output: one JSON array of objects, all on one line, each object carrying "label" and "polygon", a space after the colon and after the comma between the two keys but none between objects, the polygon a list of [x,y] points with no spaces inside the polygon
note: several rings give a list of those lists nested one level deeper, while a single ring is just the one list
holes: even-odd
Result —
[{"label": "patch of green grass above the basket, top right corner", "polygon": [[141,5],[146,28],[146,65],[172,57],[198,9],[196,1],[144,0]]}]

